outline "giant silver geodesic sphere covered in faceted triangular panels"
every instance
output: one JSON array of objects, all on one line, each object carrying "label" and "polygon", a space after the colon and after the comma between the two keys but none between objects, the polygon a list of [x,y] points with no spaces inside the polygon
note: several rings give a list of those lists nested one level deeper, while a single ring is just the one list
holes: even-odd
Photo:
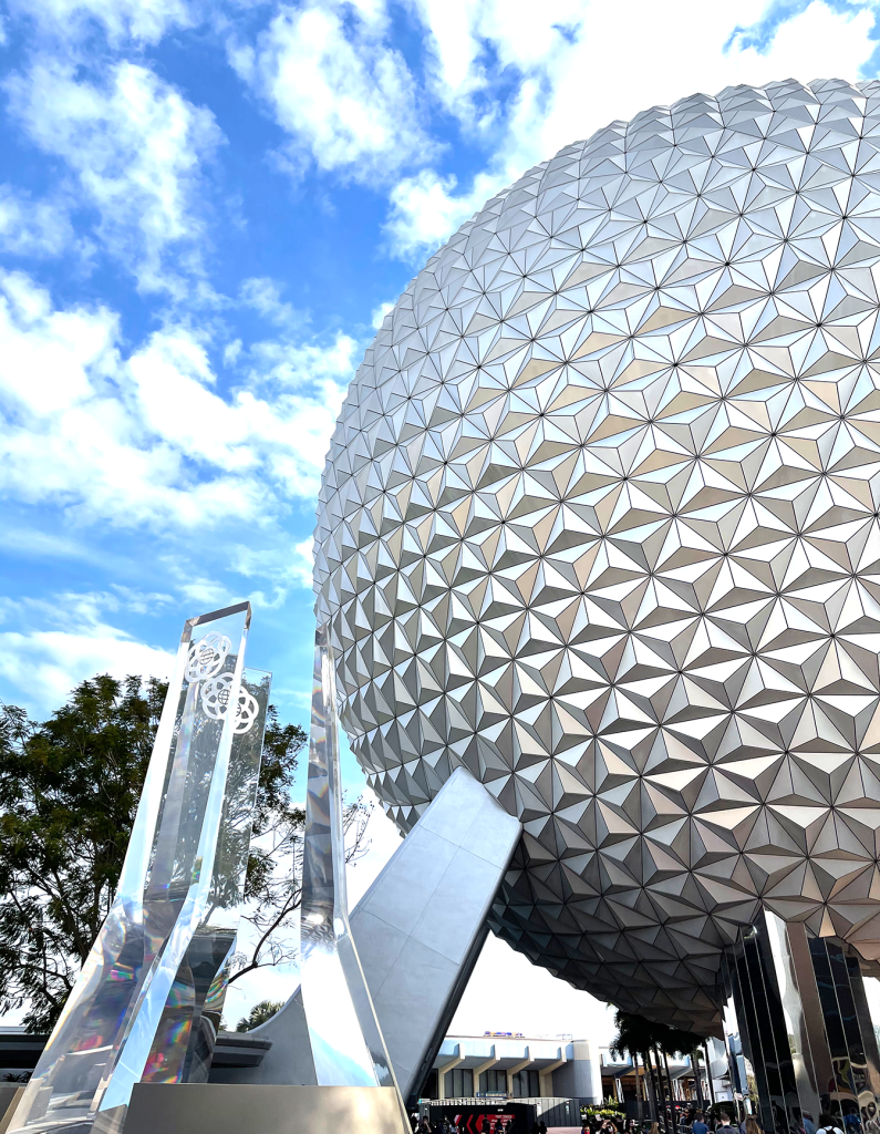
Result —
[{"label": "giant silver geodesic sphere covered in faceted triangular panels", "polygon": [[761,904],[875,957],[880,84],[694,95],[491,200],[386,318],[316,528],[408,829],[465,764],[492,924],[705,1025]]}]

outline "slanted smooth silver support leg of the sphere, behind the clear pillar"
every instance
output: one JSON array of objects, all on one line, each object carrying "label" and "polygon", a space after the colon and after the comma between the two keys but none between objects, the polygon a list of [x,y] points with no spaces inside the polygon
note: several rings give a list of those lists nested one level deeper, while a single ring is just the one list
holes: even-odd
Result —
[{"label": "slanted smooth silver support leg of the sphere, behind the clear pillar", "polygon": [[[446,1033],[521,835],[519,821],[459,769],[352,912],[352,936],[404,1099]],[[315,1082],[298,990],[251,1034],[272,1041],[261,1065],[214,1070],[212,1082]]]}]

